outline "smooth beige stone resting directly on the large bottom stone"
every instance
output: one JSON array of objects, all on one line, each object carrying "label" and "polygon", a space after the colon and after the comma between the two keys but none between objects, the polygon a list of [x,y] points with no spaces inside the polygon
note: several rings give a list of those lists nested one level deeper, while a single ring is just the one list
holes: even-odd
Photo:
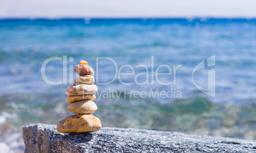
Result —
[{"label": "smooth beige stone resting directly on the large bottom stone", "polygon": [[83,100],[68,105],[69,112],[74,114],[93,114],[97,109],[96,103],[90,100]]}]

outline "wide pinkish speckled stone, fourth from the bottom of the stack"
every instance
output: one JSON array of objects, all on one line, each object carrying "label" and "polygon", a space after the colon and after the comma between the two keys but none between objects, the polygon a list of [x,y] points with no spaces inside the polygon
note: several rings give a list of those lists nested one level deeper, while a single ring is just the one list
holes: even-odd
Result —
[{"label": "wide pinkish speckled stone, fourth from the bottom of the stack", "polygon": [[95,84],[70,84],[66,89],[66,95],[86,95],[97,93],[98,88]]}]

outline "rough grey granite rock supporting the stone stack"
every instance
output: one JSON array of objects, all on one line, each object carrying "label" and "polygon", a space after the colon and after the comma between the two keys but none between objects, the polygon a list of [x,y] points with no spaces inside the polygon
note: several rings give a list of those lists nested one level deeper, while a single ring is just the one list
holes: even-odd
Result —
[{"label": "rough grey granite rock supporting the stone stack", "polygon": [[255,140],[186,135],[170,131],[102,128],[94,133],[59,133],[55,125],[23,128],[25,152],[256,152]]}]

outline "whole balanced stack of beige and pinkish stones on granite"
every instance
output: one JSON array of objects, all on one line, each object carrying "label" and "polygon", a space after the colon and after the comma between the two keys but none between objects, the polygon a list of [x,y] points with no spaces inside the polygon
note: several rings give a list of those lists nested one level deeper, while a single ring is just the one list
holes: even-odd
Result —
[{"label": "whole balanced stack of beige and pinkish stones on granite", "polygon": [[96,99],[93,94],[97,93],[97,86],[94,84],[94,70],[87,64],[82,60],[75,67],[75,72],[80,76],[66,90],[68,110],[75,115],[65,117],[57,123],[59,132],[81,133],[101,129],[101,121],[92,115],[97,110],[96,103],[92,102]]}]

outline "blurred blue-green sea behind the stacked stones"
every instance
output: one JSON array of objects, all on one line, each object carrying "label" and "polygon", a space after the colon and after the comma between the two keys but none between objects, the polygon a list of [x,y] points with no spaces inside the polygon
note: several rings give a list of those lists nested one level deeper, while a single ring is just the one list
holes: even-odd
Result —
[{"label": "blurred blue-green sea behind the stacked stones", "polygon": [[[190,134],[256,138],[256,20],[218,18],[173,19],[2,19],[0,20],[0,141],[13,150],[24,149],[22,126],[56,124],[70,115],[65,95],[68,84],[52,86],[41,77],[41,65],[50,57],[73,57],[69,65],[87,60],[95,69],[97,57],[109,57],[120,68],[182,65],[176,84],[124,86],[115,80],[97,85],[146,91],[181,91],[182,98],[99,98],[95,116],[103,126],[181,131]],[[216,96],[197,90],[192,70],[216,57]],[[151,67],[151,58],[154,66]],[[46,76],[62,81],[62,61],[46,66]],[[109,60],[99,62],[99,83],[115,76]],[[69,69],[69,67],[68,67]],[[207,70],[198,70],[197,83],[207,82]],[[124,70],[131,72],[131,70]],[[145,72],[136,69],[135,74]],[[167,72],[167,69],[162,69]],[[67,77],[69,79],[69,72]],[[133,77],[122,77],[126,83]],[[173,76],[162,77],[173,81]],[[145,78],[139,77],[144,82]],[[164,82],[162,81],[162,82]]]}]

